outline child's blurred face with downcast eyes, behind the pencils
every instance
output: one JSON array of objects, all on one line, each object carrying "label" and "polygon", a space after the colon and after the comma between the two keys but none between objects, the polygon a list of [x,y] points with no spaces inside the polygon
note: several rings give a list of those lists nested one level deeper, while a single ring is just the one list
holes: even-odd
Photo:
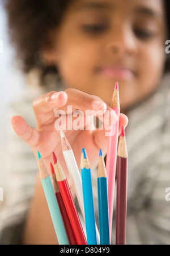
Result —
[{"label": "child's blurred face with downcast eyes, behind the pencils", "polygon": [[118,81],[126,111],[158,86],[165,36],[162,0],[76,0],[48,53],[68,87],[108,104]]}]

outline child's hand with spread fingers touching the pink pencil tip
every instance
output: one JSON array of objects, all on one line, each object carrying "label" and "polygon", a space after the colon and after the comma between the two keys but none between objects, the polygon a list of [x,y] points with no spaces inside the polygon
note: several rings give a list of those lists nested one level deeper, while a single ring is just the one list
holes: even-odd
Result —
[{"label": "child's hand with spread fingers touching the pink pencil tip", "polygon": [[[63,170],[67,170],[62,155],[60,131],[59,129],[57,131],[54,127],[57,118],[61,118],[61,116],[54,116],[54,109],[65,111],[65,117],[67,119],[67,114],[70,115],[70,113],[67,113],[67,106],[71,106],[73,112],[75,110],[83,111],[84,116],[86,110],[100,110],[103,113],[102,115],[108,110],[112,115],[109,115],[110,120],[107,121],[111,121],[112,118],[112,122],[115,123],[117,120],[114,111],[112,111],[111,107],[107,106],[103,100],[79,90],[67,89],[66,91],[58,93],[52,91],[35,99],[33,102],[33,110],[37,120],[37,128],[34,129],[29,126],[21,116],[13,116],[11,123],[17,135],[31,146],[36,157],[37,150],[40,151],[48,169],[50,162],[53,162],[52,152],[55,152]],[[75,117],[73,117],[73,120],[74,118]],[[119,133],[121,127],[126,127],[127,124],[128,117],[124,114],[120,114]],[[104,154],[107,153],[108,137],[105,136],[105,128],[103,130],[96,129],[94,131],[89,131],[86,129],[85,125],[86,127],[87,125],[90,125],[90,118],[88,121],[86,119],[86,124],[84,123],[82,130],[79,129],[78,131],[75,131],[72,129],[71,131],[63,132],[73,149],[78,166],[80,165],[82,148],[86,148],[91,167],[94,168],[97,166],[99,159],[99,150],[102,149]],[[103,127],[105,127],[105,125],[103,125]]]}]

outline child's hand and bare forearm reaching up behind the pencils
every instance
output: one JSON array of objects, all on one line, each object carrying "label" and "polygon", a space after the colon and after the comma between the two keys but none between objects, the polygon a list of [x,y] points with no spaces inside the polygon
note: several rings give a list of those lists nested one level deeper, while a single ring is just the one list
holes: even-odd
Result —
[{"label": "child's hand and bare forearm reaching up behind the pencils", "polygon": [[[18,136],[31,146],[36,158],[37,150],[40,151],[49,173],[50,162],[53,163],[52,152],[56,153],[67,175],[68,182],[72,187],[73,184],[71,184],[69,179],[66,163],[62,154],[60,131],[57,131],[55,128],[57,118],[54,116],[54,109],[56,108],[56,110],[65,111],[65,114],[68,114],[68,117],[70,117],[69,115],[72,113],[67,113],[67,106],[72,106],[72,111],[82,110],[83,114],[85,114],[86,110],[101,110],[103,114],[106,110],[109,110],[110,113],[112,111],[109,106],[106,106],[105,103],[96,96],[91,96],[75,89],[67,89],[65,92],[61,91],[59,93],[53,91],[34,100],[33,110],[37,120],[36,129],[29,126],[21,116],[13,116],[11,123]],[[67,116],[62,116],[62,119],[65,117]],[[114,114],[114,121],[116,121],[115,117]],[[88,119],[86,125],[89,124],[90,119]],[[127,124],[127,117],[121,114],[120,129],[122,125],[126,127]],[[107,153],[108,137],[105,136],[105,130],[88,131],[86,127],[84,127],[84,129],[79,129],[78,131],[72,129],[71,131],[63,132],[70,142],[78,166],[80,166],[82,148],[86,148],[92,168],[97,166],[99,161],[99,149],[101,148],[103,149],[103,153]],[[74,193],[71,187],[70,189]],[[46,236],[44,236],[44,234],[46,234]],[[23,244],[57,244],[57,238],[42,189],[40,175],[37,175],[35,196],[33,196],[31,209],[25,223]]]}]

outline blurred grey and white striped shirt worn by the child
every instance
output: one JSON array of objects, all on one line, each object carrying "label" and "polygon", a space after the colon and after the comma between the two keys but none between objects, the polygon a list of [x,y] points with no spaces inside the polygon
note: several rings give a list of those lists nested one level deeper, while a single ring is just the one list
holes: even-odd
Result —
[{"label": "blurred grey and white striped shirt worn by the child", "polygon": [[[38,91],[37,96],[44,93]],[[21,115],[28,124],[36,127],[32,110],[31,93],[11,106],[11,116]],[[169,75],[162,85],[129,111],[126,128],[128,146],[128,196],[126,244],[169,244],[170,201],[166,200],[170,187],[170,88]],[[5,195],[5,207],[1,211],[1,244],[17,244],[34,194],[37,163],[29,146],[12,131],[8,140],[10,163],[10,189]],[[11,168],[12,164],[12,168]],[[96,223],[98,220],[97,170],[92,173]],[[12,181],[12,182],[11,182]],[[12,192],[11,192],[12,191]],[[116,190],[115,190],[116,191]],[[169,196],[170,199],[170,196]],[[115,243],[115,207],[112,228],[112,244]],[[11,228],[14,227],[15,228]]]}]

